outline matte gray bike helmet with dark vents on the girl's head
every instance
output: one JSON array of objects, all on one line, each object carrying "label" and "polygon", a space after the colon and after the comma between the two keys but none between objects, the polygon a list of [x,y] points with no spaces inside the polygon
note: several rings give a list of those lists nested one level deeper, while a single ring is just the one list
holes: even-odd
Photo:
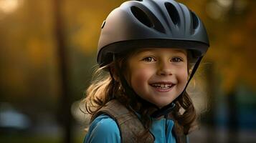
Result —
[{"label": "matte gray bike helmet with dark vents on the girl's head", "polygon": [[126,1],[103,21],[98,43],[98,64],[113,61],[113,54],[138,48],[188,49],[192,58],[204,56],[209,39],[193,11],[174,0]]}]

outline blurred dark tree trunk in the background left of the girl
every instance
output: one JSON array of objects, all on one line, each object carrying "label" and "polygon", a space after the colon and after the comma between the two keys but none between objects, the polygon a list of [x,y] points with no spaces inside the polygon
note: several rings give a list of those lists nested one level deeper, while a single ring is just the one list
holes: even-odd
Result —
[{"label": "blurred dark tree trunk in the background left of the girl", "polygon": [[71,89],[68,81],[68,64],[67,64],[67,45],[65,44],[65,34],[64,26],[62,21],[62,10],[61,10],[62,1],[54,0],[54,21],[55,21],[55,36],[57,41],[57,56],[59,60],[60,68],[60,109],[59,117],[62,127],[64,129],[64,137],[62,142],[71,143],[71,126],[72,126],[72,117],[70,112],[71,107]]}]

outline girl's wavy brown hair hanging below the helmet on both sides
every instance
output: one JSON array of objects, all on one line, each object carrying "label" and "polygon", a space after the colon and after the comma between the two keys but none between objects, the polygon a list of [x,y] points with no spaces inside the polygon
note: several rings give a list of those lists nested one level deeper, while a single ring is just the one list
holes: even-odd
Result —
[{"label": "girl's wavy brown hair hanging below the helmet on both sides", "polygon": [[[125,73],[128,65],[127,59],[131,55],[130,53],[118,56],[116,57],[117,60],[95,70],[92,83],[87,88],[86,97],[82,102],[85,103],[86,111],[93,116],[111,99],[117,99],[118,102],[122,103],[131,112],[135,111],[141,114],[141,121],[146,128],[146,132],[149,132],[152,123],[150,115],[156,111],[156,107],[152,106],[152,104],[146,104],[146,102],[136,97],[131,97],[132,95],[125,94],[120,80],[113,78],[117,75],[111,76],[109,72],[116,65],[119,65],[120,72]],[[189,69],[191,69],[191,64],[188,62],[188,73]],[[179,134],[189,134],[191,129],[196,127],[196,111],[189,94],[185,92],[182,96],[177,97],[174,103],[176,107],[171,112],[171,117],[174,117],[177,131]],[[146,134],[146,132],[143,134]]]}]

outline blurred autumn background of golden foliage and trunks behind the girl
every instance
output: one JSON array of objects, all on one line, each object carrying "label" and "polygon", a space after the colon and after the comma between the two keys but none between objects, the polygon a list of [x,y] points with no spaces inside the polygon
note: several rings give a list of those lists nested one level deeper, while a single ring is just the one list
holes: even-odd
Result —
[{"label": "blurred autumn background of golden foliage and trunks behind the girl", "polygon": [[[189,88],[201,114],[191,142],[256,142],[256,1],[179,2],[211,44]],[[121,3],[0,0],[0,142],[82,142],[100,26]]]}]

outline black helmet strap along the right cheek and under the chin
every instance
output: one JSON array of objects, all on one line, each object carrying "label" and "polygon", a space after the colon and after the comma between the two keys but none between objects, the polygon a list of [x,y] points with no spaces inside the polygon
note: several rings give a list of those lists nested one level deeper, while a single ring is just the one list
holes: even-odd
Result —
[{"label": "black helmet strap along the right cheek and under the chin", "polygon": [[[199,59],[196,61],[196,64],[194,65],[194,68],[191,71],[189,80],[188,80],[188,82],[186,82],[186,86],[185,86],[184,90],[181,92],[181,94],[179,94],[179,96],[182,96],[186,92],[186,87],[188,87],[189,82],[192,79],[192,77],[194,76],[196,69],[198,68],[202,59],[203,59],[203,56],[199,57]],[[174,102],[171,102],[170,104],[166,105],[165,107],[158,109],[156,112],[153,112],[153,114],[151,114],[151,117],[158,118],[163,115],[169,114],[169,112],[171,112],[171,110],[174,109],[175,105],[176,104],[174,104]]]}]

